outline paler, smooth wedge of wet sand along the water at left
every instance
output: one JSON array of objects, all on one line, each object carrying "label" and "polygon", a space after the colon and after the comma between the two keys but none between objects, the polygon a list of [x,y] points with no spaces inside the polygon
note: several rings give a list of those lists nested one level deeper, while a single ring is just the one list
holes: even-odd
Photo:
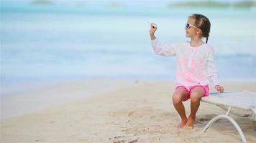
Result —
[{"label": "paler, smooth wedge of wet sand along the water at left", "polygon": [[[46,89],[40,89],[23,94],[1,96],[1,119],[45,109],[59,104],[84,99],[95,94],[103,94],[116,89],[137,86],[133,80],[87,80],[52,84]],[[47,87],[45,85],[45,87]],[[2,87],[4,88],[4,87]]]}]

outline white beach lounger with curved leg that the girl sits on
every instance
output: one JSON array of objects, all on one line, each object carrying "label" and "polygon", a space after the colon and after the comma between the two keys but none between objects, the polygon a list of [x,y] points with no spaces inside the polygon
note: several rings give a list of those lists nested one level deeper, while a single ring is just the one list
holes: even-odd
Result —
[{"label": "white beach lounger with curved leg that the girl sits on", "polygon": [[[221,107],[222,109],[227,110],[226,114],[221,114],[214,119],[211,119],[211,121],[206,124],[206,127],[204,127],[204,131],[211,126],[214,122],[216,122],[219,119],[228,119],[232,124],[234,124],[234,127],[236,127],[237,131],[239,132],[242,142],[247,142],[244,134],[237,124],[237,122],[232,119],[232,117],[229,117],[230,114],[234,114],[240,117],[253,117],[254,121],[256,122],[256,93],[255,92],[247,92],[247,91],[232,91],[232,92],[214,92],[211,93],[209,97],[202,97],[201,102],[206,102],[209,104],[214,104],[218,107]],[[244,109],[249,111],[249,114],[240,114],[237,112],[231,111],[231,109]]]}]

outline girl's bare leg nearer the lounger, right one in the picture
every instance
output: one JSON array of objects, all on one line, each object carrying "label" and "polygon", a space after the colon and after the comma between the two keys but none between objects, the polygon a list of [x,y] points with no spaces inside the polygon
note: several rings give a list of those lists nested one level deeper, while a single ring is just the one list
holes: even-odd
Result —
[{"label": "girl's bare leg nearer the lounger, right one in the picture", "polygon": [[205,94],[203,87],[195,87],[191,89],[191,114],[188,117],[186,127],[193,127],[193,123],[196,119],[196,112],[200,106],[200,99]]}]

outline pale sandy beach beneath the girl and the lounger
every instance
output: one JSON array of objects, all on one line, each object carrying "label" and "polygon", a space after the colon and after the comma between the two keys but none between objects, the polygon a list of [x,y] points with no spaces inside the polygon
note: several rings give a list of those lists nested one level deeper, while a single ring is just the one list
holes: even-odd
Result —
[{"label": "pale sandy beach beneath the girl and the lounger", "polygon": [[[226,91],[255,92],[255,83],[224,83]],[[193,129],[176,129],[174,83],[79,81],[1,98],[1,142],[242,142],[236,129],[210,119],[225,111],[201,103]],[[211,87],[211,92],[215,92]],[[189,114],[190,102],[186,102]],[[256,142],[252,119],[232,116],[247,142]]]}]

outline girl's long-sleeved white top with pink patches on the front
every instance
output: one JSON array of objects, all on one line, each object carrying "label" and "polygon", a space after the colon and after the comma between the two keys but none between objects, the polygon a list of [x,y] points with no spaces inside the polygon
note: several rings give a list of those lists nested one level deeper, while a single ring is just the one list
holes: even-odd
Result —
[{"label": "girl's long-sleeved white top with pink patches on the front", "polygon": [[209,81],[219,85],[219,71],[214,66],[214,48],[209,44],[192,47],[188,41],[162,46],[158,39],[151,41],[156,54],[177,56],[176,86],[206,86]]}]

